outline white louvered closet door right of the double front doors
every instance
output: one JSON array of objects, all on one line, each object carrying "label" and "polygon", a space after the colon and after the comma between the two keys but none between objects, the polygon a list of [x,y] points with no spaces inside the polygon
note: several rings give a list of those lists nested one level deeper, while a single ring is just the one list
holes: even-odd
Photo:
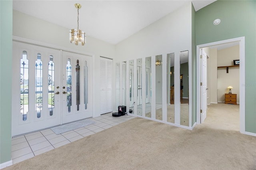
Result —
[{"label": "white louvered closet door right of the double front doors", "polygon": [[112,59],[100,57],[100,114],[112,112]]}]

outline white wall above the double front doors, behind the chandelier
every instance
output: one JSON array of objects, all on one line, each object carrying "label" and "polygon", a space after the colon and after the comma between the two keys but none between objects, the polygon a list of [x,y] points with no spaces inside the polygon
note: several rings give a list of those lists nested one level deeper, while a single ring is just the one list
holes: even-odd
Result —
[{"label": "white wall above the double front doors, behind the chandelier", "polygon": [[[86,32],[86,30],[84,31]],[[92,38],[90,36],[86,37],[86,45],[74,45],[69,41],[69,28],[64,28],[56,24],[40,20],[38,18],[28,16],[16,10],[13,10],[13,36],[27,38],[30,40],[36,40],[39,42],[49,43],[52,45],[58,45],[60,47],[83,51],[84,53],[94,55],[93,115],[99,116],[99,103],[97,101],[100,101],[100,83],[98,78],[100,77],[100,56],[114,58],[114,45]],[[115,63],[115,61],[113,61],[113,63]],[[113,77],[115,77],[115,71],[113,71]],[[113,97],[114,96],[115,95],[113,95]]]}]

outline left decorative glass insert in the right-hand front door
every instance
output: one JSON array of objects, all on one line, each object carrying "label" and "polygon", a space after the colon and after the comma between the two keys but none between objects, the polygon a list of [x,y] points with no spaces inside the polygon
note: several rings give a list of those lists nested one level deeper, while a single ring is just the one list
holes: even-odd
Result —
[{"label": "left decorative glass insert in the right-hand front door", "polygon": [[72,82],[72,77],[71,77],[71,64],[70,64],[70,58],[68,58],[68,63],[67,63],[67,107],[68,107],[68,112],[71,111],[71,105],[72,105],[72,88],[71,88],[71,82]]}]

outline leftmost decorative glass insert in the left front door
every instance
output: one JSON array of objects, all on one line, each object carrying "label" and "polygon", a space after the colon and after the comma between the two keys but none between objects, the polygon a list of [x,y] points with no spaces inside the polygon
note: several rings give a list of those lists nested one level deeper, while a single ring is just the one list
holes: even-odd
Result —
[{"label": "leftmost decorative glass insert in the left front door", "polygon": [[27,120],[28,113],[28,59],[27,52],[22,52],[20,59],[20,113],[22,120]]}]

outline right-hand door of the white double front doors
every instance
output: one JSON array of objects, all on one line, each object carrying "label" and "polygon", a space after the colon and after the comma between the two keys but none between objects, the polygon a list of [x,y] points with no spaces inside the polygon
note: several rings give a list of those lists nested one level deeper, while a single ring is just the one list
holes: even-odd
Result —
[{"label": "right-hand door of the white double front doors", "polygon": [[62,123],[92,117],[92,58],[62,53]]}]

